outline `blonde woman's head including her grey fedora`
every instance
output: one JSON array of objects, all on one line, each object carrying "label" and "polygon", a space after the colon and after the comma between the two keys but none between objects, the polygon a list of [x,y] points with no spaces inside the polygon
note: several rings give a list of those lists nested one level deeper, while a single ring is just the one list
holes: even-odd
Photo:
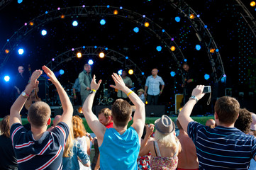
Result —
[{"label": "blonde woman's head including her grey fedora", "polygon": [[176,145],[175,124],[167,115],[155,120],[155,140],[165,147]]}]

